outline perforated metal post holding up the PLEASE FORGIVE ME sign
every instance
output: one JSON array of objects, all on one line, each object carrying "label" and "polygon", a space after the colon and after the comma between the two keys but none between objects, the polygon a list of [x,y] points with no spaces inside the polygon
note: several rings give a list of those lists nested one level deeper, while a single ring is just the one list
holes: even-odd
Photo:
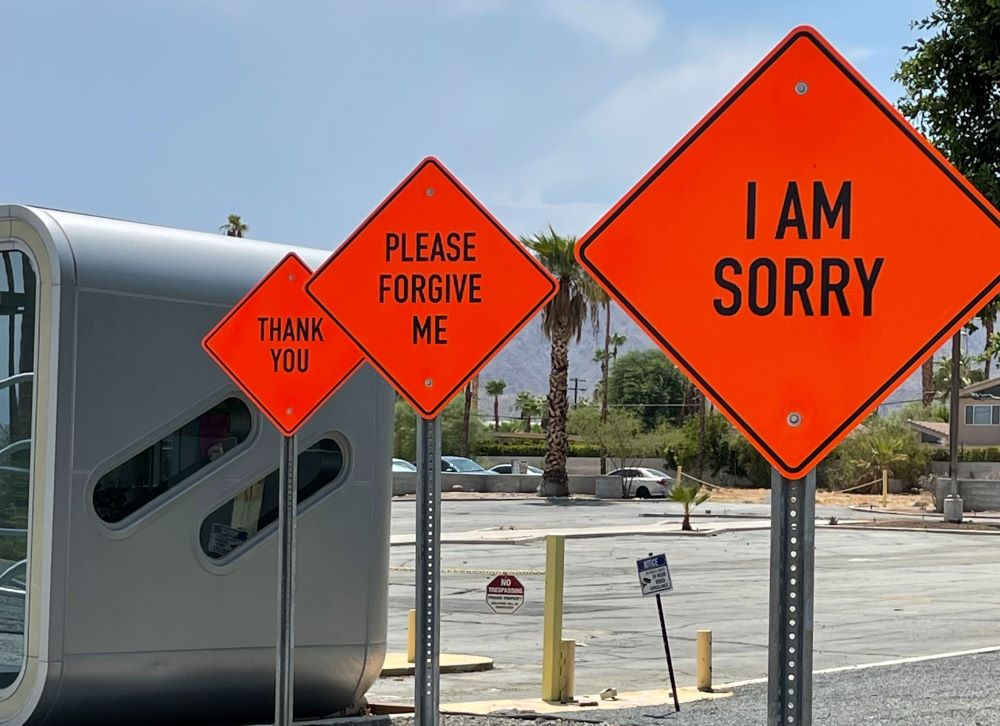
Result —
[{"label": "perforated metal post holding up the PLEASE FORGIVE ME sign", "polygon": [[441,599],[441,422],[417,418],[416,726],[437,726],[440,707],[438,631]]}]

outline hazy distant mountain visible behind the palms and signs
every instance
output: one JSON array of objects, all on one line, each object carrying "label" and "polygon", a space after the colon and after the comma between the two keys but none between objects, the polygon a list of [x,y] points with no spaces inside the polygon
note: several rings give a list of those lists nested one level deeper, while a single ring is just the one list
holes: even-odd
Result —
[{"label": "hazy distant mountain visible behind the palms and signs", "polygon": [[[655,347],[653,341],[632,322],[621,308],[614,304],[611,307],[611,331],[627,337],[626,343],[618,349],[619,355],[630,350]],[[979,355],[983,352],[985,343],[986,336],[980,328],[969,336],[967,350],[971,355]],[[570,378],[582,379],[578,384],[578,398],[580,400],[594,397],[594,386],[601,379],[601,366],[594,361],[594,352],[603,349],[603,347],[603,324],[599,332],[594,332],[589,323],[584,327],[580,342],[573,343],[570,347],[569,375]],[[551,346],[542,334],[542,321],[539,315],[493,359],[480,376],[479,410],[482,417],[488,420],[493,416],[493,401],[491,397],[486,395],[486,381],[502,379],[507,382],[506,392],[500,397],[500,416],[502,418],[517,417],[514,398],[519,391],[531,391],[540,396],[548,393],[550,355]],[[950,355],[951,343],[949,342],[934,354],[934,358],[940,360]],[[733,364],[738,366],[739,361],[734,359]],[[997,372],[1000,373],[1000,370]],[[889,395],[879,410],[884,413],[894,408],[895,405],[919,401],[920,393],[920,371],[917,371]],[[569,396],[570,403],[572,403],[572,381],[569,384]]]}]

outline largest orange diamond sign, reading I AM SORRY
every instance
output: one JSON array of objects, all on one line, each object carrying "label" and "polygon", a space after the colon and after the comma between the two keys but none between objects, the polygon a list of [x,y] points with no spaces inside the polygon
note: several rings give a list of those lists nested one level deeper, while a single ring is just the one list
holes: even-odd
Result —
[{"label": "largest orange diamond sign, reading I AM SORRY", "polygon": [[997,293],[1000,218],[803,27],[577,254],[771,464],[800,478]]}]

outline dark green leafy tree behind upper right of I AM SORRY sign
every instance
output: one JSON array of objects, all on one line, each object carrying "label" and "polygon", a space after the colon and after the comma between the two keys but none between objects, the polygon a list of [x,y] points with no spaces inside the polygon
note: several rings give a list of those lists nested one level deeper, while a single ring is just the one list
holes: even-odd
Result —
[{"label": "dark green leafy tree behind upper right of I AM SORRY sign", "polygon": [[[912,27],[921,37],[903,48],[907,55],[893,75],[904,91],[899,110],[1000,206],[1000,5],[996,0],[938,0],[935,10]],[[935,262],[927,260],[929,266]],[[984,308],[987,337],[996,308],[996,298]],[[924,363],[921,380],[928,404],[934,398],[931,360]]]}]

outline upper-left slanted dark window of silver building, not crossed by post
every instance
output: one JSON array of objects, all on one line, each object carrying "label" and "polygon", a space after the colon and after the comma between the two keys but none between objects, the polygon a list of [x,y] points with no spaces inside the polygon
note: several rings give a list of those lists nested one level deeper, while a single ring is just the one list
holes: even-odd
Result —
[{"label": "upper-left slanted dark window of silver building, not crossed by post", "polygon": [[94,509],[105,522],[120,522],[226,456],[250,434],[250,409],[227,398],[102,476]]}]

